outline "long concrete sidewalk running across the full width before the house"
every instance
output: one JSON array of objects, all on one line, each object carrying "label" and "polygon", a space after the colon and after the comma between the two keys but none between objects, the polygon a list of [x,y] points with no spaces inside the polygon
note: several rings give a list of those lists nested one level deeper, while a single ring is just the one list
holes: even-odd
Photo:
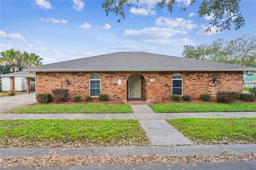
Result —
[{"label": "long concrete sidewalk running across the full width before the house", "polygon": [[182,118],[241,118],[256,117],[256,112],[212,112],[212,113],[99,113],[99,114],[0,114],[0,120],[16,119],[133,119],[166,120]]}]

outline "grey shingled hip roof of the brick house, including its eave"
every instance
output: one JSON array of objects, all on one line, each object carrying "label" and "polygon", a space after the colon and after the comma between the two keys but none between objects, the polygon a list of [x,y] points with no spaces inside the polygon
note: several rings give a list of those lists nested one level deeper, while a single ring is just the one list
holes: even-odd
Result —
[{"label": "grey shingled hip roof of the brick house, including its eave", "polygon": [[116,52],[22,69],[23,71],[256,71],[245,67],[146,52]]}]

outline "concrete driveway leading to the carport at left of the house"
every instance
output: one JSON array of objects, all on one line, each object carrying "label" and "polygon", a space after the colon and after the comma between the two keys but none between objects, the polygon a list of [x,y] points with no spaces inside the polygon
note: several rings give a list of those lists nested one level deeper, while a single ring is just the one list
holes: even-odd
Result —
[{"label": "concrete driveway leading to the carport at left of the house", "polygon": [[36,102],[36,93],[23,93],[15,96],[0,97],[0,112],[22,107]]}]

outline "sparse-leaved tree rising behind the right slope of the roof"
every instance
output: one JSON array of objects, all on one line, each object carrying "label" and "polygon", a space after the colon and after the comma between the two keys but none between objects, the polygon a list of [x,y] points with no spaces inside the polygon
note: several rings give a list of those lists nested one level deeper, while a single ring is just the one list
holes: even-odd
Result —
[{"label": "sparse-leaved tree rising behind the right slope of the roof", "polygon": [[256,36],[218,39],[210,44],[184,45],[183,57],[256,67]]}]

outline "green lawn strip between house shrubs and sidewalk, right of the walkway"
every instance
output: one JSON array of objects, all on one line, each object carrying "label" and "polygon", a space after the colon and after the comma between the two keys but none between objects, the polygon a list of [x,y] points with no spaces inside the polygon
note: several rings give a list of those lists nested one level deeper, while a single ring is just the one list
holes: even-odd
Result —
[{"label": "green lawn strip between house shrubs and sidewalk, right of the walkway", "polygon": [[256,111],[255,103],[175,103],[150,105],[155,113]]}]

